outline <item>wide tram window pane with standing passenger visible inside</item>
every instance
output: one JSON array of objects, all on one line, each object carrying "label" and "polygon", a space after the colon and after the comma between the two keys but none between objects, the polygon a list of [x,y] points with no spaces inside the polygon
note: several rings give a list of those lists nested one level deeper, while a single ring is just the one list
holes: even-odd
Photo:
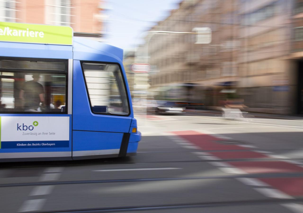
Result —
[{"label": "wide tram window pane with standing passenger visible inside", "polygon": [[65,63],[0,60],[0,113],[66,113]]}]

